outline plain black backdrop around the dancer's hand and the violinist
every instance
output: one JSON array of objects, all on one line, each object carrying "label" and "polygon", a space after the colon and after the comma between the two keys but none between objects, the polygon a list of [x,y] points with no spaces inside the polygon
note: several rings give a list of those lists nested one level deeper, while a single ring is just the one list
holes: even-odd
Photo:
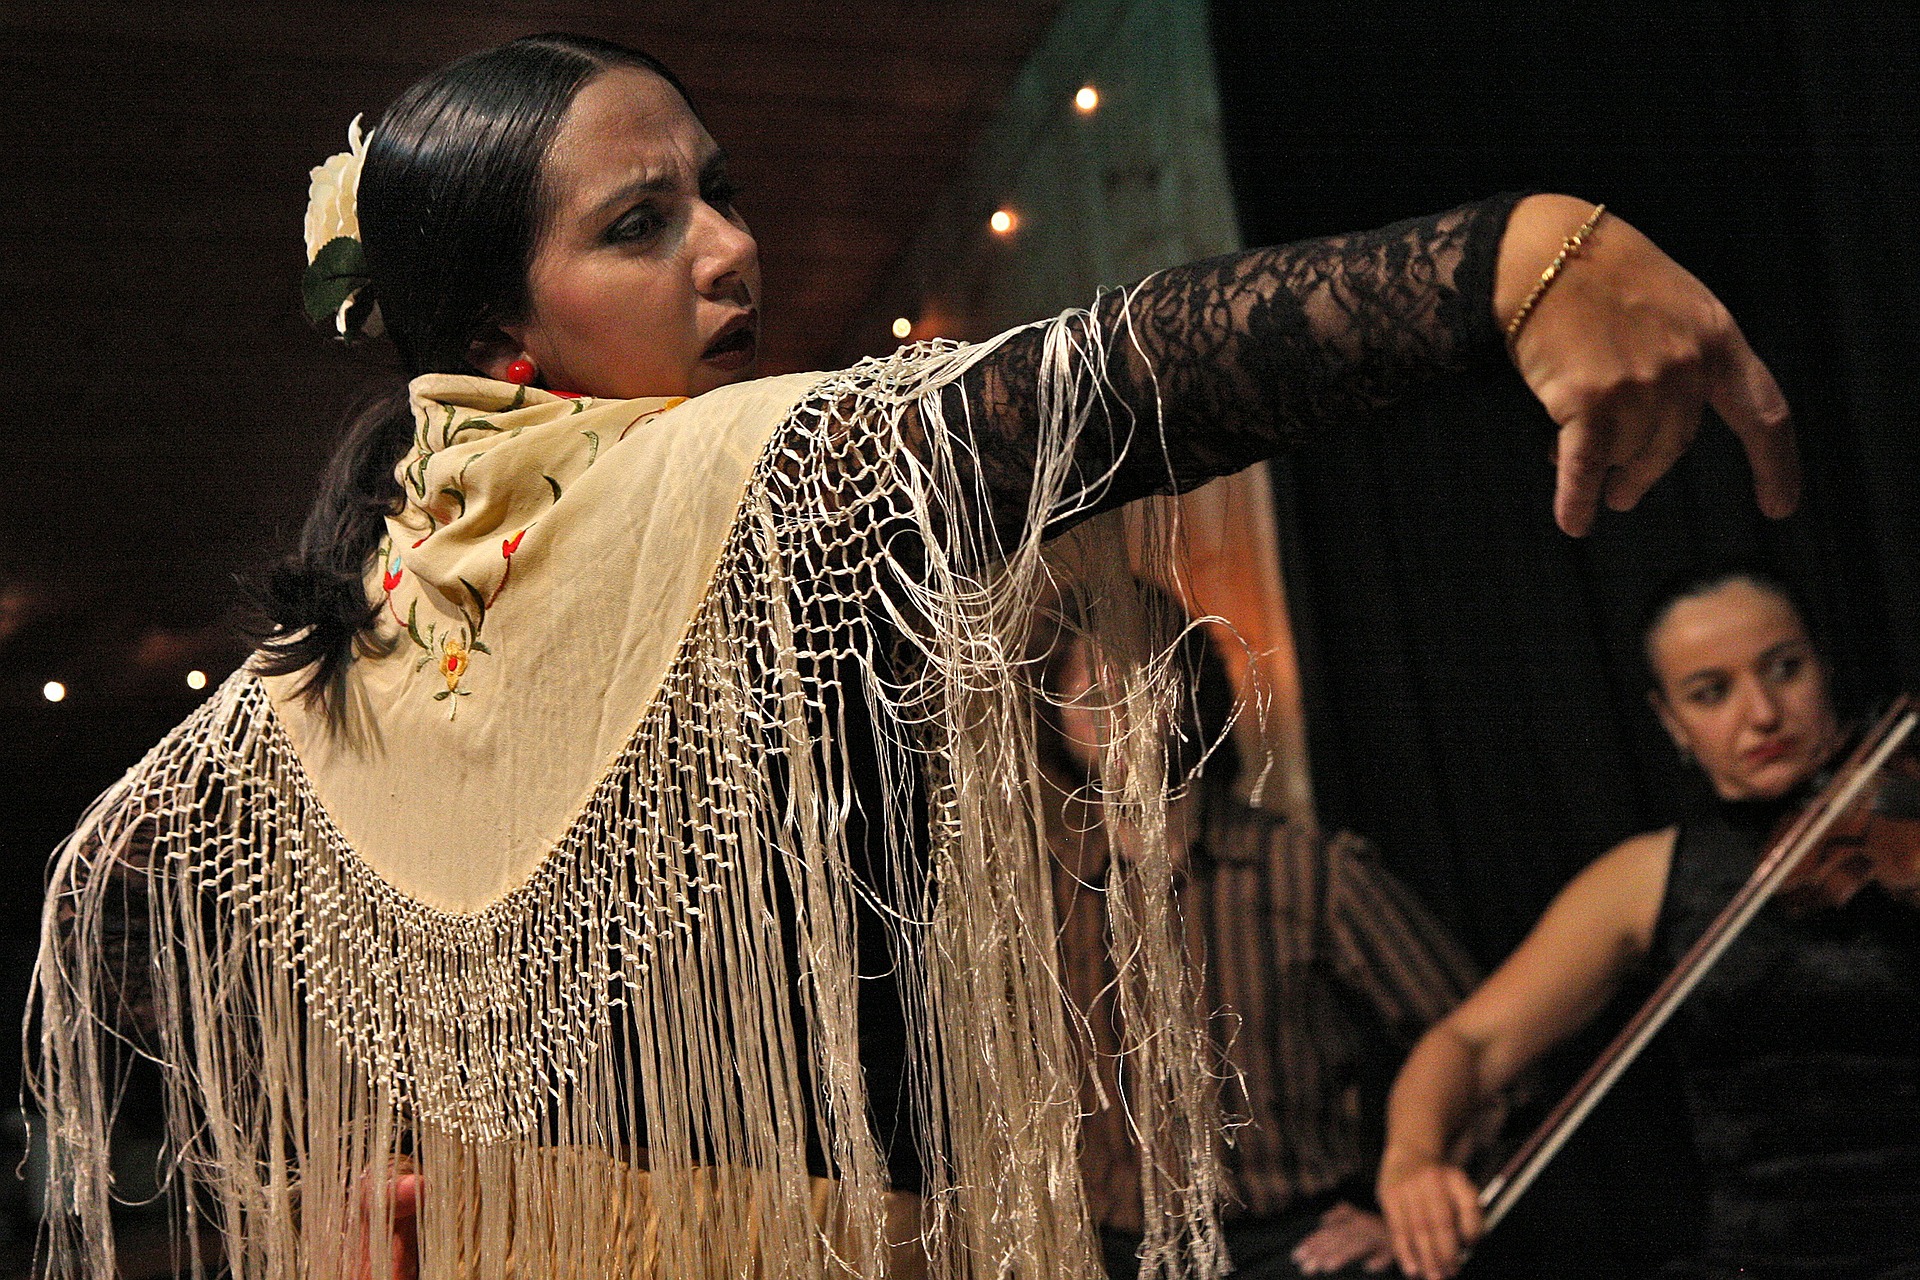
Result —
[{"label": "plain black backdrop around the dancer's hand and the violinist", "polygon": [[[1920,687],[1916,12],[1217,0],[1213,23],[1248,242],[1494,190],[1605,200],[1732,307],[1795,411],[1807,497],[1780,524],[1713,424],[1638,510],[1561,535],[1551,432],[1513,378],[1281,464],[1321,816],[1494,963],[1588,860],[1701,800],[1632,635],[1688,560],[1753,555],[1801,585],[1855,700]],[[1632,1073],[1482,1268],[1642,1274],[1678,1240],[1663,1071]]]}]

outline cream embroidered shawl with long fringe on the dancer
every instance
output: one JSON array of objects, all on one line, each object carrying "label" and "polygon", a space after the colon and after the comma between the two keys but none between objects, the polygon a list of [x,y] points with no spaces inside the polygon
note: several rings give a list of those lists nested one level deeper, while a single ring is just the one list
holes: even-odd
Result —
[{"label": "cream embroidered shawl with long fringe on the dancer", "polygon": [[[1117,520],[1041,551],[1098,495],[1073,466],[1091,416],[1125,422],[1106,338],[1052,322],[1004,547],[939,395],[993,344],[685,403],[419,380],[409,505],[369,574],[386,651],[349,668],[344,723],[240,672],[60,854],[35,1063],[54,1274],[111,1274],[129,900],[177,1203],[234,1276],[390,1274],[367,1222],[409,1165],[432,1280],[883,1276],[889,1251],[893,1274],[1100,1274],[1029,631],[1071,560],[1129,674],[1108,804],[1156,829],[1171,672]],[[852,718],[877,739],[866,791]],[[864,814],[883,867],[851,848],[862,794],[885,796]],[[1108,879],[1123,1025],[1148,1029],[1106,1100],[1158,1171],[1146,1265],[1215,1274],[1171,867]],[[916,1219],[870,1119],[856,902],[889,921],[904,1002]],[[219,1267],[182,1242],[192,1274]]]}]

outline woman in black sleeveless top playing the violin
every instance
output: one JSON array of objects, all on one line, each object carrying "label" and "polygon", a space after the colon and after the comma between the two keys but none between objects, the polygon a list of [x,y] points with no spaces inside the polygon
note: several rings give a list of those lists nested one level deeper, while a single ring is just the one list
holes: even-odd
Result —
[{"label": "woman in black sleeveless top playing the violin", "polygon": [[[1741,889],[1843,735],[1791,593],[1755,568],[1678,580],[1645,614],[1649,700],[1718,796],[1624,841],[1407,1057],[1379,1194],[1409,1276],[1453,1274],[1484,1230],[1448,1153],[1476,1105],[1580,1031],[1640,965],[1665,971]],[[1707,1180],[1699,1245],[1667,1276],[1920,1276],[1920,912],[1866,885],[1772,902],[1665,1032]]]}]

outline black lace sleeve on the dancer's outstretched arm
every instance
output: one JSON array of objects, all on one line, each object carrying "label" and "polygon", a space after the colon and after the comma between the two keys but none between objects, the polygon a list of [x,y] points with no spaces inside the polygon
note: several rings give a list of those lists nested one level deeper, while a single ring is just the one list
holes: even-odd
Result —
[{"label": "black lace sleeve on the dancer's outstretched arm", "polygon": [[[1081,438],[1094,493],[1069,505],[1075,518],[1225,476],[1438,374],[1503,359],[1494,263],[1519,200],[1229,253],[1104,294],[1092,332],[1106,336],[1117,403]],[[1027,518],[1044,342],[1043,328],[1006,340],[960,384],[968,413],[948,413],[972,420],[1002,537]]]}]

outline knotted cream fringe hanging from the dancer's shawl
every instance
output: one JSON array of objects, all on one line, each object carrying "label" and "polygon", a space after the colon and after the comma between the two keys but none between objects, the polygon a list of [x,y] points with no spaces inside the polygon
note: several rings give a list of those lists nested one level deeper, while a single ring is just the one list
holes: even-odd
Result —
[{"label": "knotted cream fringe hanging from the dancer's shawl", "polygon": [[[242,1280],[390,1274],[403,1171],[419,1171],[430,1280],[883,1276],[922,1251],[933,1276],[1098,1276],[1075,1150],[1089,1038],[1058,973],[1031,637],[1046,601],[1083,597],[1119,672],[1108,806],[1164,837],[1165,620],[1146,616],[1114,528],[1041,543],[1068,503],[1098,501],[1073,449],[1121,413],[1108,342],[1125,334],[1085,313],[1046,334],[1010,547],[985,516],[972,424],[941,397],[991,345],[824,382],[762,457],[626,750],[532,879],[482,912],[376,877],[263,685],[228,679],[56,862],[33,1067],[58,1190],[50,1274],[113,1267],[108,1134],[142,1023],[123,1007],[119,921],[134,912],[154,992],[138,1052],[169,1096],[194,1276],[221,1267],[198,1222]],[[885,812],[864,818],[889,887],[849,848],[849,714],[877,739]],[[1114,1103],[1144,1148],[1142,1274],[1169,1280],[1223,1267],[1171,873],[1164,852],[1110,871],[1127,1029]],[[870,1123],[860,904],[889,921],[904,992],[918,1221]],[[808,1134],[829,1180],[808,1173]]]}]

